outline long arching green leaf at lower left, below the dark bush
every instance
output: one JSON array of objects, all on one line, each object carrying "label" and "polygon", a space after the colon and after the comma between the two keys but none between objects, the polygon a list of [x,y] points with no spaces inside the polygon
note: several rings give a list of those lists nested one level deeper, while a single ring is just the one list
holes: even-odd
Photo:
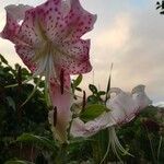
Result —
[{"label": "long arching green leaf at lower left, below the dark bush", "polygon": [[57,145],[54,142],[54,140],[49,140],[45,137],[40,137],[40,136],[35,136],[32,133],[23,133],[22,136],[20,136],[16,141],[20,142],[32,142],[32,143],[36,143],[37,145],[47,148],[48,150],[51,151],[57,151]]}]

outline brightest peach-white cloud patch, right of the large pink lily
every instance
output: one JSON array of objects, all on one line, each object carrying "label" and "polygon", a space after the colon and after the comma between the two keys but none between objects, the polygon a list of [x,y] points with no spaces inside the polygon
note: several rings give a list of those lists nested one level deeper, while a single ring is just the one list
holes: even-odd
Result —
[{"label": "brightest peach-white cloud patch, right of the large pink lily", "polygon": [[[109,24],[109,23],[108,23]],[[116,52],[121,49],[129,39],[130,16],[126,13],[117,15],[108,27],[104,28],[98,35],[95,35],[94,44],[97,49],[107,49]]]}]

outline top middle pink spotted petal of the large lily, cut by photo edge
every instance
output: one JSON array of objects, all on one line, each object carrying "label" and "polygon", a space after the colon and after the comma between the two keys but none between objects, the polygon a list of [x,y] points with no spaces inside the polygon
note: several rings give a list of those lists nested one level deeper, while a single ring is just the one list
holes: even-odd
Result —
[{"label": "top middle pink spotted petal of the large lily, cut by photo edge", "polygon": [[55,45],[63,39],[63,33],[68,27],[63,21],[69,4],[62,0],[49,0],[36,8],[37,21],[45,32],[46,37]]}]

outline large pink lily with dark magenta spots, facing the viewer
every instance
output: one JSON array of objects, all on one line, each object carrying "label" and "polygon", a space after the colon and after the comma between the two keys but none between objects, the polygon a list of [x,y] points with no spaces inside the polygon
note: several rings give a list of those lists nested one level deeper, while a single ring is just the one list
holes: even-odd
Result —
[{"label": "large pink lily with dark magenta spots, facing the viewer", "polygon": [[93,28],[96,15],[85,11],[79,0],[47,0],[36,8],[8,5],[1,37],[15,50],[35,75],[44,75],[57,109],[56,137],[67,140],[70,120],[70,74],[86,73],[90,39],[81,36]]}]

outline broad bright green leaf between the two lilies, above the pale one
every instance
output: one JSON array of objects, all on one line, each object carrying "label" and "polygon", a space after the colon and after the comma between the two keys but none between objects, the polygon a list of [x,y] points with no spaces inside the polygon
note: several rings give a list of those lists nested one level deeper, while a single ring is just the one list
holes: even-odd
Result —
[{"label": "broad bright green leaf between the two lilies, above the pale one", "polygon": [[93,104],[85,107],[83,113],[81,113],[80,118],[84,121],[92,120],[98,117],[102,113],[108,110],[105,105]]}]

